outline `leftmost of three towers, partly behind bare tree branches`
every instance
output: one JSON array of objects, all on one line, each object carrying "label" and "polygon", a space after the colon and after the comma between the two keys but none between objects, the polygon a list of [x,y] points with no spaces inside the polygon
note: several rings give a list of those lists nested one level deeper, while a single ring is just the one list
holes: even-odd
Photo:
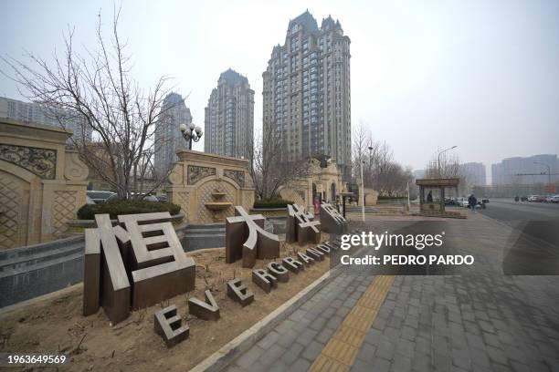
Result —
[{"label": "leftmost of three towers, partly behind bare tree branches", "polygon": [[158,177],[163,177],[178,160],[175,151],[186,147],[183,134],[179,130],[181,124],[192,123],[190,109],[180,94],[169,93],[163,99],[162,114],[155,127],[155,159],[154,169]]}]

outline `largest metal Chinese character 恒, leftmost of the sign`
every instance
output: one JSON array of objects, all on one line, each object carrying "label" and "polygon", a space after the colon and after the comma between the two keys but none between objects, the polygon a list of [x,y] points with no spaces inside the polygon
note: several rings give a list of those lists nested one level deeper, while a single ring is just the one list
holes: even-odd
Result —
[{"label": "largest metal Chinese character \u6052, leftmost of the sign", "polygon": [[99,306],[113,324],[133,309],[148,307],[195,288],[195,262],[174,232],[169,212],[95,216],[87,229],[83,314]]}]

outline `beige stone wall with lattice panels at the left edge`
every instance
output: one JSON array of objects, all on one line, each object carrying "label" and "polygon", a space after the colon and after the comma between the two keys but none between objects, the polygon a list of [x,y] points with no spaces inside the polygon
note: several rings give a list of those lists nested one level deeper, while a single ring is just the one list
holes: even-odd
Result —
[{"label": "beige stone wall with lattice panels at the left edge", "polygon": [[85,204],[87,166],[64,129],[0,119],[0,250],[66,232]]}]

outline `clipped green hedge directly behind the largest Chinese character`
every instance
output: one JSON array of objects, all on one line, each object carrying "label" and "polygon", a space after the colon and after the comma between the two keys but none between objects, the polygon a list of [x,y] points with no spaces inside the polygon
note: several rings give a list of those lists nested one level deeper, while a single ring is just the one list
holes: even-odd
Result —
[{"label": "clipped green hedge directly behind the largest Chinese character", "polygon": [[171,215],[181,211],[180,205],[171,202],[147,201],[111,201],[100,204],[86,204],[79,208],[79,220],[94,220],[95,214],[109,213],[111,219],[116,219],[121,214],[169,212]]}]

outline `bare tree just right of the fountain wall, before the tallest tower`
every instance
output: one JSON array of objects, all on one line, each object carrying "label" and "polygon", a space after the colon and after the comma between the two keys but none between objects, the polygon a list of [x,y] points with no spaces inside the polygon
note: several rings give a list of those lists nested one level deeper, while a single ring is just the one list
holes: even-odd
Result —
[{"label": "bare tree just right of the fountain wall, before the tallest tower", "polygon": [[308,160],[285,160],[280,134],[273,129],[259,133],[250,147],[252,179],[260,199],[272,199],[281,186],[310,175]]}]

